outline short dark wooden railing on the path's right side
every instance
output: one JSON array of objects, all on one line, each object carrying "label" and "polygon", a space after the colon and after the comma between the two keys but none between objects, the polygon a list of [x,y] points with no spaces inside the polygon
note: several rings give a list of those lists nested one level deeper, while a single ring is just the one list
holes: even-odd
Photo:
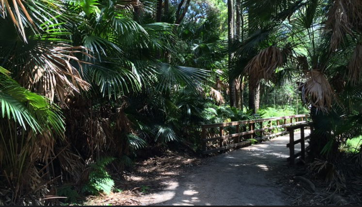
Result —
[{"label": "short dark wooden railing on the path's right side", "polygon": [[[287,148],[289,148],[290,151],[290,157],[287,159],[290,164],[295,164],[295,159],[298,157],[301,157],[302,160],[305,160],[305,141],[309,140],[311,136],[305,136],[304,129],[306,127],[311,127],[311,122],[297,125],[297,126],[291,126],[287,127],[286,130],[289,132],[289,143],[286,145]],[[300,129],[300,139],[294,140],[294,131]],[[311,127],[311,133],[313,132],[313,127]],[[300,143],[300,152],[295,153],[295,145]]]}]

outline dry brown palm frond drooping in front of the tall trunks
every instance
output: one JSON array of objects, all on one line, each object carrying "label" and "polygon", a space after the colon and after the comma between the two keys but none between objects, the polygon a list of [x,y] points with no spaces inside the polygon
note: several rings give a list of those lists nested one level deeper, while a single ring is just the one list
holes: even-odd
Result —
[{"label": "dry brown palm frond drooping in front of the tall trunks", "polygon": [[282,51],[275,46],[270,46],[256,55],[245,67],[245,71],[250,76],[251,84],[256,88],[260,80],[268,81],[277,67],[281,66],[283,66]]}]

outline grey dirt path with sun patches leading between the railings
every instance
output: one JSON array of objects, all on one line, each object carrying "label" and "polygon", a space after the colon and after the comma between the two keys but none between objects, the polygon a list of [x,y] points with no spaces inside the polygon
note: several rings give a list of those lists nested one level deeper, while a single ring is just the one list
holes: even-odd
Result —
[{"label": "grey dirt path with sun patches leading between the railings", "polygon": [[207,158],[163,181],[160,192],[142,197],[142,205],[286,205],[275,179],[287,167],[288,142],[287,135]]}]

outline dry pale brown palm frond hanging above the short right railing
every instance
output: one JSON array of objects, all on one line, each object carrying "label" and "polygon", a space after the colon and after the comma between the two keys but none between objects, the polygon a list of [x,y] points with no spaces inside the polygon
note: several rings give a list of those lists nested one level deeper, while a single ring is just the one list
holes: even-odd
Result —
[{"label": "dry pale brown palm frond hanging above the short right railing", "polygon": [[300,86],[303,101],[312,104],[317,110],[328,112],[333,99],[336,99],[331,84],[319,70],[309,71],[306,78],[306,82]]}]

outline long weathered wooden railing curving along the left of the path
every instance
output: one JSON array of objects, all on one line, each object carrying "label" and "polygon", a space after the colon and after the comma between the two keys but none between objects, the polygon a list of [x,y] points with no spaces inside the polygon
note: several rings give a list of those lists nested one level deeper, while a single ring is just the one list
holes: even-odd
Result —
[{"label": "long weathered wooden railing curving along the left of the path", "polygon": [[[294,115],[202,126],[203,154],[208,155],[288,133],[286,127],[304,124],[308,115]],[[266,123],[266,125],[264,125]],[[259,128],[256,129],[256,125]],[[229,128],[229,130],[225,130]],[[208,129],[213,129],[210,132]],[[215,129],[216,132],[215,133]],[[277,132],[274,129],[278,129]],[[282,131],[279,131],[283,129]],[[235,132],[235,133],[234,133]],[[257,134],[259,133],[259,134]],[[215,135],[216,134],[216,135]],[[216,136],[216,137],[215,137]],[[231,140],[233,138],[233,140]]]}]

